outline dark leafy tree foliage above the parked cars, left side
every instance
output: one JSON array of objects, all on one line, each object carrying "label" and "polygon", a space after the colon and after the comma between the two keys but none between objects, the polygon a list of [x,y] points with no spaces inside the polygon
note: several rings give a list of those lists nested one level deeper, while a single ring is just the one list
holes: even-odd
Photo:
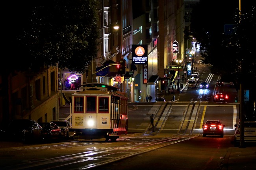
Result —
[{"label": "dark leafy tree foliage above the parked cars, left side", "polygon": [[[97,55],[95,0],[39,0],[14,5],[21,16],[16,11],[16,27],[12,23],[11,30],[7,30],[14,35],[8,37],[11,38],[8,41],[12,49],[19,51],[14,52],[18,63],[20,56],[26,63],[13,69],[38,71],[43,66],[58,64],[59,68],[67,68],[71,72],[85,72]],[[9,19],[13,18],[15,15]]]}]

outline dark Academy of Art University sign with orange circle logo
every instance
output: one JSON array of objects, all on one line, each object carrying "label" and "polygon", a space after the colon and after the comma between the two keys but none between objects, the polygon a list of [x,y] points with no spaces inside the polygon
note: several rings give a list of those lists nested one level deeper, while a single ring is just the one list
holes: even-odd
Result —
[{"label": "dark Academy of Art University sign with orange circle logo", "polygon": [[148,64],[147,44],[132,44],[132,64]]}]

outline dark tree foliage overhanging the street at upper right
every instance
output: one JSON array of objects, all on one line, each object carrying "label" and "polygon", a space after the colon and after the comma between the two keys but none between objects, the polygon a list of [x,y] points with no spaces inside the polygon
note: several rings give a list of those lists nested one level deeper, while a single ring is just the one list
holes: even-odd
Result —
[{"label": "dark tree foliage overhanging the street at upper right", "polygon": [[[249,77],[255,76],[255,57],[250,56],[254,55],[256,13],[253,2],[246,3],[249,4],[242,4],[241,22],[238,1],[226,0],[220,5],[212,0],[200,0],[192,12],[189,34],[200,44],[202,61],[210,65],[211,73],[221,75],[226,82],[248,75],[237,74],[241,63],[251,73]],[[229,25],[232,28],[224,29]]]}]

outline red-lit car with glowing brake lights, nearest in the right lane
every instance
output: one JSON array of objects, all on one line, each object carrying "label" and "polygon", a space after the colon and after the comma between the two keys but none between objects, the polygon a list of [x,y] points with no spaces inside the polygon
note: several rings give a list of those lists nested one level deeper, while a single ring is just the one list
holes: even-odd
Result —
[{"label": "red-lit car with glowing brake lights, nearest in the right lane", "polygon": [[205,124],[203,124],[203,137],[206,137],[206,135],[219,135],[223,137],[224,127],[225,125],[219,120],[207,120]]}]

